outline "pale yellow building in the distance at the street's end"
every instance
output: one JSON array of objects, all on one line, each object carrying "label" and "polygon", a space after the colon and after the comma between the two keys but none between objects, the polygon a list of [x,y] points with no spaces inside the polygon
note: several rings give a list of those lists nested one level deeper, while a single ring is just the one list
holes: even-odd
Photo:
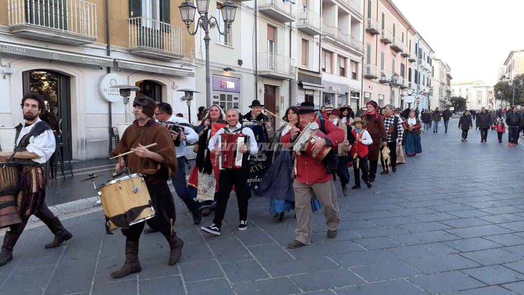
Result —
[{"label": "pale yellow building in the distance at the street's end", "polygon": [[466,99],[468,110],[498,109],[495,101],[493,86],[487,86],[481,80],[453,82],[451,84],[451,95],[461,96]]}]

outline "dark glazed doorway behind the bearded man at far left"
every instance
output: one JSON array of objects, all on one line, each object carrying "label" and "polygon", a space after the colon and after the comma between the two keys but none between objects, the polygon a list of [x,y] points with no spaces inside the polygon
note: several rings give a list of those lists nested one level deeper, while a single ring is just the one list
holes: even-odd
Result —
[{"label": "dark glazed doorway behind the bearded man at far left", "polygon": [[45,100],[40,119],[47,122],[54,134],[69,134],[64,159],[71,160],[71,86],[69,77],[45,69],[22,73],[24,93],[37,92]]}]

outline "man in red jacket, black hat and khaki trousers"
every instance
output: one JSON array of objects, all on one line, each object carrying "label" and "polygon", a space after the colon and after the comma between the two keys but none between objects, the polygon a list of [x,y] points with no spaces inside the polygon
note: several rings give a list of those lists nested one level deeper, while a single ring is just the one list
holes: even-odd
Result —
[{"label": "man in red jacket, black hat and khaki trousers", "polygon": [[[294,142],[298,134],[308,123],[316,122],[320,129],[324,125],[326,137],[315,140],[313,153],[318,153],[324,146],[337,146],[344,141],[344,131],[329,120],[322,120],[315,113],[313,102],[305,101],[300,104],[298,111],[299,127],[293,126],[291,130],[282,137],[282,143]],[[301,153],[297,156],[297,177],[293,181],[295,195],[295,213],[297,215],[297,227],[295,239],[289,243],[290,249],[299,248],[311,243],[313,212],[311,210],[311,193],[322,204],[326,224],[328,225],[328,238],[335,238],[337,227],[340,224],[339,205],[333,175],[328,172],[324,162],[316,161],[308,154]]]}]

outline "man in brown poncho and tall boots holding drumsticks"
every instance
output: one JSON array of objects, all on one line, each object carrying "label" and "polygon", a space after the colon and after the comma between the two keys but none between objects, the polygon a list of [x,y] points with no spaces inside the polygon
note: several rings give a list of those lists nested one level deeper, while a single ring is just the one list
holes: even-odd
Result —
[{"label": "man in brown poncho and tall boots holding drumsticks", "polygon": [[[139,94],[133,102],[135,121],[130,125],[118,142],[114,155],[128,151],[134,153],[119,157],[116,171],[128,167],[132,173],[143,173],[147,190],[155,208],[156,216],[148,219],[147,224],[158,229],[169,243],[169,265],[174,265],[182,255],[183,241],[172,228],[176,218],[173,196],[167,185],[170,174],[177,173],[177,154],[169,131],[153,119],[156,102],[144,94]],[[146,149],[145,145],[157,143]],[[144,222],[122,229],[126,237],[124,266],[111,273],[113,278],[122,278],[130,273],[139,272],[138,240],[144,230]]]}]

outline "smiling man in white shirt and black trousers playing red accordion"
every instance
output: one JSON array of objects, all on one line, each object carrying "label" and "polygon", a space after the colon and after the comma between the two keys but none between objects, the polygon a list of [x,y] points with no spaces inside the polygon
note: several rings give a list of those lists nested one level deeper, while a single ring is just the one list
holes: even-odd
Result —
[{"label": "smiling man in white shirt and black trousers playing red accordion", "polygon": [[[220,134],[226,132],[230,133],[243,133],[248,137],[249,148],[247,145],[243,144],[239,148],[241,153],[249,153],[250,155],[255,155],[258,153],[258,145],[255,140],[255,135],[253,131],[249,128],[243,128],[242,124],[238,122],[240,118],[240,112],[238,109],[228,109],[226,112],[227,127],[224,127],[217,131],[215,135],[209,140],[208,148],[219,157],[223,151],[219,148]],[[247,155],[244,155],[244,157]],[[244,161],[247,163],[247,161]],[[227,201],[230,198],[231,190],[233,185],[235,186],[236,198],[238,201],[238,214],[240,217],[240,224],[238,225],[238,230],[244,230],[247,228],[247,192],[246,192],[246,182],[247,176],[249,174],[247,165],[243,166],[241,169],[225,169],[220,171],[219,176],[219,192],[218,200],[216,202],[215,217],[213,219],[213,224],[211,226],[203,226],[201,229],[208,233],[211,233],[216,236],[220,236],[220,227],[222,226],[222,220],[226,212]]]}]

